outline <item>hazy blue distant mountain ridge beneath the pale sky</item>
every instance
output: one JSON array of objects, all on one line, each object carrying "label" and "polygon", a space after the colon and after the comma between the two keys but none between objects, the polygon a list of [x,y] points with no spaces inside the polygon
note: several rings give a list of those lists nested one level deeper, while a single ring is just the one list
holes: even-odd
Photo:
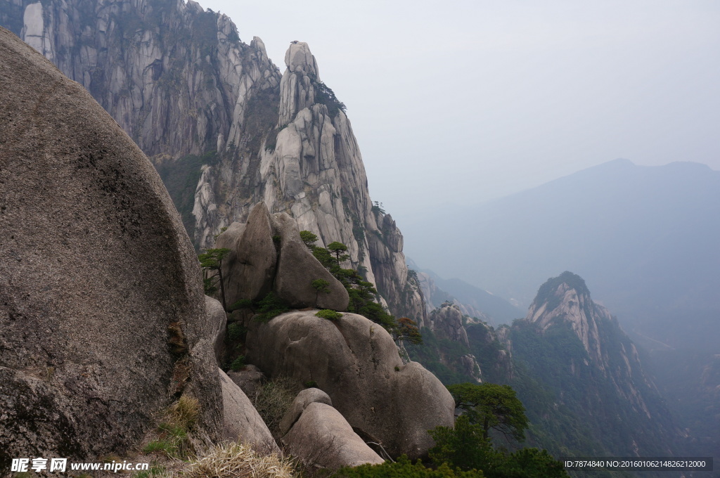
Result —
[{"label": "hazy blue distant mountain ridge beneath the pale sky", "polygon": [[438,274],[528,305],[537,284],[577,271],[644,345],[720,352],[719,171],[618,159],[442,224],[408,238]]}]

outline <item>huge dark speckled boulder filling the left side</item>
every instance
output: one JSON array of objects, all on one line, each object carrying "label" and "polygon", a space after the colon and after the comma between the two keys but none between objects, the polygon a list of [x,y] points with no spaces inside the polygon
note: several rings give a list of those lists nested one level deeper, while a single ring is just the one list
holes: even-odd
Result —
[{"label": "huge dark speckled boulder filling the left side", "polygon": [[0,470],[135,446],[222,397],[201,271],[145,155],[80,85],[0,28]]}]

